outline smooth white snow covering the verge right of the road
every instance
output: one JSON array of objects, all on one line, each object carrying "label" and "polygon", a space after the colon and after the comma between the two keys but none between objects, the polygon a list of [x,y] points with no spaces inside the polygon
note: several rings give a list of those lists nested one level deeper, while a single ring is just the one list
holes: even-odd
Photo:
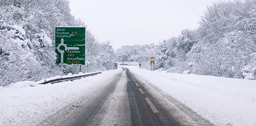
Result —
[{"label": "smooth white snow covering the verge right of the road", "polygon": [[126,67],[215,125],[256,125],[256,81]]}]

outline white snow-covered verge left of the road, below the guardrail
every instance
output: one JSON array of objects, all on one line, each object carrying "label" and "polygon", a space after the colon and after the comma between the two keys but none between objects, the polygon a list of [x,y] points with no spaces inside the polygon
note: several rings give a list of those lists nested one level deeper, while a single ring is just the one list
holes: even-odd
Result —
[{"label": "white snow-covered verge left of the road, below the guardrail", "polygon": [[36,125],[79,97],[94,93],[118,71],[122,69],[53,85],[24,81],[0,87],[0,125]]}]

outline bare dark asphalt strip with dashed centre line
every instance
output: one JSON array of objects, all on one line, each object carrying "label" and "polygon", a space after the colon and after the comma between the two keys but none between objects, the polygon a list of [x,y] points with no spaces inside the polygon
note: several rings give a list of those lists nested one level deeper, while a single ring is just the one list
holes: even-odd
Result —
[{"label": "bare dark asphalt strip with dashed centre line", "polygon": [[132,125],[180,125],[128,70],[126,75]]}]

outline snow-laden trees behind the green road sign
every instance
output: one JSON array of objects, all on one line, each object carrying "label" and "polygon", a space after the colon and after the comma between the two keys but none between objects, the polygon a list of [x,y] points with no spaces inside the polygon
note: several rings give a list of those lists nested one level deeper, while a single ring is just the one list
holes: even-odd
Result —
[{"label": "snow-laden trees behind the green road sign", "polygon": [[[68,0],[0,1],[0,86],[78,73],[77,65],[55,65],[54,34],[58,26],[85,26],[71,15]],[[87,29],[85,36],[83,72],[104,69],[100,48],[105,45]]]}]

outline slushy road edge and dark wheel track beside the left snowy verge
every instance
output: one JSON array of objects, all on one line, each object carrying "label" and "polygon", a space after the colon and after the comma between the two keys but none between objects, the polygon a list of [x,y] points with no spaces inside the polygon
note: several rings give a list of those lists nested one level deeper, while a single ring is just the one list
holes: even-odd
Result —
[{"label": "slushy road edge and dark wheel track beside the left snowy verge", "polygon": [[122,72],[111,78],[106,85],[90,96],[81,97],[47,117],[38,125],[90,125],[109,95],[115,90],[121,75]]}]

